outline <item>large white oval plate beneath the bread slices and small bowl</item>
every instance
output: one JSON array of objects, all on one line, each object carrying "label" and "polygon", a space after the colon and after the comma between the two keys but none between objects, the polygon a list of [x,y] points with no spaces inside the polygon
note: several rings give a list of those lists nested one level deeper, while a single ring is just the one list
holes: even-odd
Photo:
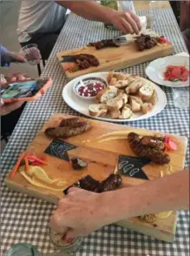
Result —
[{"label": "large white oval plate beneath the bread slices and small bowl", "polygon": [[[93,100],[84,100],[82,98],[79,98],[78,96],[75,95],[75,92],[73,91],[73,86],[74,84],[77,84],[78,81],[80,81],[83,78],[88,78],[88,77],[102,77],[102,79],[107,79],[108,72],[99,72],[99,73],[93,73],[93,74],[88,74],[84,75],[82,77],[76,77],[72,81],[70,81],[68,84],[66,84],[62,90],[62,98],[66,102],[66,104],[69,105],[73,110],[78,111],[79,113],[83,114],[84,116],[87,116],[89,118],[92,118],[89,113],[88,113],[88,105],[93,104]],[[154,84],[154,90],[157,93],[158,101],[157,104],[154,105],[153,111],[147,113],[147,114],[142,114],[142,113],[137,113],[134,114],[134,118],[131,119],[111,119],[107,117],[103,118],[95,118],[103,121],[108,121],[108,122],[130,122],[130,121],[137,121],[141,119],[146,119],[146,118],[151,118],[163,111],[167,104],[167,97],[164,91],[161,90],[161,88]],[[93,117],[94,118],[94,117]]]}]

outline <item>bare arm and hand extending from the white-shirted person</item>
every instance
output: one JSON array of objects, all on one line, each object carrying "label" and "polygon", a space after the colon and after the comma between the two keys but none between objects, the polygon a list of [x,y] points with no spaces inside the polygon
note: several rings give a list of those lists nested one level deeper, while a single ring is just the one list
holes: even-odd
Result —
[{"label": "bare arm and hand extending from the white-shirted person", "polygon": [[126,34],[138,34],[141,30],[139,18],[130,10],[127,12],[113,10],[95,1],[56,1],[56,3],[88,20],[114,24]]}]

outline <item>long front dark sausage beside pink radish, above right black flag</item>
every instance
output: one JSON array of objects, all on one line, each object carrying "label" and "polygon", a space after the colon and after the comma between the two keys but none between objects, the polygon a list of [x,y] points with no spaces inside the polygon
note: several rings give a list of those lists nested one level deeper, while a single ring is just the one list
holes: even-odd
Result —
[{"label": "long front dark sausage beside pink radish, above right black flag", "polygon": [[[148,158],[159,165],[168,164],[170,162],[170,157],[162,151],[164,148],[162,148],[160,143],[158,144],[159,146],[153,146],[152,143],[151,146],[148,145],[148,143],[147,145],[144,145],[143,143],[145,143],[146,139],[143,140],[143,138],[140,138],[139,135],[134,132],[128,134],[129,145],[137,156]],[[141,140],[143,143],[141,143]]]}]

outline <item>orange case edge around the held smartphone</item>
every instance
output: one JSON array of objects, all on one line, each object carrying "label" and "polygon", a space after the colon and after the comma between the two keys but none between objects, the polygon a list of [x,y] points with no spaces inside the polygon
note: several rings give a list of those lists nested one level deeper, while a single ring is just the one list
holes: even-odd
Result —
[{"label": "orange case edge around the held smartphone", "polygon": [[[25,102],[25,101],[36,101],[38,98],[41,98],[43,94],[49,89],[49,87],[52,85],[53,81],[51,77],[45,78],[48,79],[47,83],[43,85],[43,87],[37,91],[36,95],[28,98],[4,98],[4,103],[12,103],[16,101]],[[42,79],[36,79],[36,80],[42,80]]]}]

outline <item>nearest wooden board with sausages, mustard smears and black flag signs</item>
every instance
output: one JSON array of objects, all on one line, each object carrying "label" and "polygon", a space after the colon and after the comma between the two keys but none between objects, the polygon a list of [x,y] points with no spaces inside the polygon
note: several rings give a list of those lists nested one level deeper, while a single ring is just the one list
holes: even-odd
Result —
[{"label": "nearest wooden board with sausages, mustard smears and black flag signs", "polygon": [[[5,182],[57,204],[71,186],[108,192],[178,172],[186,150],[187,138],[173,134],[54,114]],[[153,212],[117,225],[172,242],[176,221],[176,212]]]}]

